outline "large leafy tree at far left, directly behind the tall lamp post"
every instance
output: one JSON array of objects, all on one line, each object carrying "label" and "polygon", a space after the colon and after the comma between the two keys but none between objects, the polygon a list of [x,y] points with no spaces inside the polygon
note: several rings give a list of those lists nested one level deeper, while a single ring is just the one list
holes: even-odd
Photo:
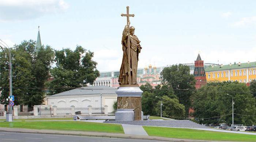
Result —
[{"label": "large leafy tree at far left, directly behind the tall lamp post", "polygon": [[[12,54],[12,85],[15,104],[29,106],[42,104],[44,101],[45,82],[49,77],[50,65],[54,59],[54,51],[49,46],[35,48],[33,40],[23,41],[15,45]],[[0,52],[0,86],[1,102],[9,94],[8,54]]]}]

